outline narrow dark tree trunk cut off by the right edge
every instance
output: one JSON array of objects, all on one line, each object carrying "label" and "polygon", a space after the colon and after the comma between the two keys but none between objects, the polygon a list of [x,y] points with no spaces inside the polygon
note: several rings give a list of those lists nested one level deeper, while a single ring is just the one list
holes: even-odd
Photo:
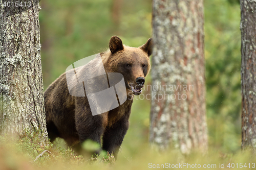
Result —
[{"label": "narrow dark tree trunk cut off by the right edge", "polygon": [[256,2],[241,0],[242,149],[256,149]]}]

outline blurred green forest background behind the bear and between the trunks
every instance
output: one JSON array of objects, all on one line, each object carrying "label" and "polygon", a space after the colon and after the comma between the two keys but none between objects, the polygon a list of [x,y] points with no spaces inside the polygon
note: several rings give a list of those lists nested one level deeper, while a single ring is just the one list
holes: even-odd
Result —
[{"label": "blurred green forest background behind the bear and between the trunks", "polygon": [[[152,1],[44,0],[40,6],[45,89],[73,62],[105,51],[111,36],[137,47],[152,35]],[[238,0],[205,0],[204,11],[209,148],[234,153],[241,145],[240,5]],[[150,101],[135,100],[122,144],[128,160],[148,145],[149,116]]]}]

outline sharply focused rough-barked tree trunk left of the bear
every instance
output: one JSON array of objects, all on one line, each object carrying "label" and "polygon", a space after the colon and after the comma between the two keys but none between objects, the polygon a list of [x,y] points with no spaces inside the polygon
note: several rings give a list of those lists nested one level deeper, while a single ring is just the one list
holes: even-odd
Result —
[{"label": "sharply focused rough-barked tree trunk left of the bear", "polygon": [[[23,1],[24,2],[24,1]],[[12,12],[0,1],[0,134],[35,132],[48,142],[40,57],[40,6]]]}]

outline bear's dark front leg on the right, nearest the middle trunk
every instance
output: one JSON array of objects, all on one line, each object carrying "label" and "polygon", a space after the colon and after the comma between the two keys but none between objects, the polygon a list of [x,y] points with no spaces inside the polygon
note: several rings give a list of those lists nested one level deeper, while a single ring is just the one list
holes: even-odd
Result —
[{"label": "bear's dark front leg on the right, nearest the middle trunk", "polygon": [[106,127],[102,138],[102,149],[109,152],[109,154],[113,153],[114,157],[117,158],[119,148],[128,128],[129,114],[124,115],[114,125]]}]

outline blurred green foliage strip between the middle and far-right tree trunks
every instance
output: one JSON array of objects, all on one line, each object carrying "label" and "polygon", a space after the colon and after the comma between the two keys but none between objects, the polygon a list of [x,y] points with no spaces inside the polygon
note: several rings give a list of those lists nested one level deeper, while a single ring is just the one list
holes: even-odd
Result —
[{"label": "blurred green foliage strip between the middle and far-right tree trunks", "polygon": [[204,5],[209,144],[235,152],[241,143],[240,6],[222,0]]}]

